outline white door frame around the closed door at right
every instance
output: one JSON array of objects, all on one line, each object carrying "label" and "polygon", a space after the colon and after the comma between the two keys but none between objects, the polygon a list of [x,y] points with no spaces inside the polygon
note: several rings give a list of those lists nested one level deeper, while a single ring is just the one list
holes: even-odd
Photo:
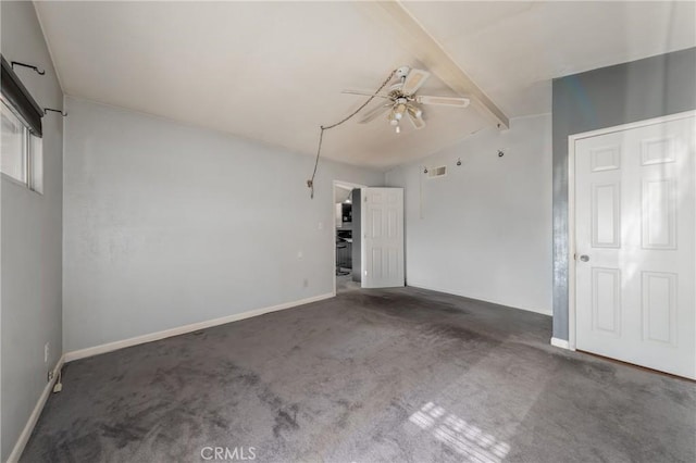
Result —
[{"label": "white door frame around the closed door at right", "polygon": [[599,135],[612,134],[616,132],[630,130],[632,128],[645,127],[648,125],[663,124],[666,122],[679,121],[696,116],[696,110],[669,114],[660,117],[652,117],[644,121],[627,124],[614,125],[612,127],[599,128],[597,130],[582,132],[568,137],[568,346],[570,350],[575,350],[576,343],[576,310],[575,310],[575,141],[583,138],[596,137]]}]

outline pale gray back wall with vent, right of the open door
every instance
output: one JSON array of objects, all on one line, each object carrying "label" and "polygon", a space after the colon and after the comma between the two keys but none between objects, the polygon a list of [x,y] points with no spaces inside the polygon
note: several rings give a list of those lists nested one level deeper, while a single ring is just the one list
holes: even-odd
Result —
[{"label": "pale gray back wall with vent, right of the open door", "polygon": [[[428,179],[423,165],[447,175]],[[386,182],[405,188],[409,286],[551,314],[549,114],[484,129]]]}]

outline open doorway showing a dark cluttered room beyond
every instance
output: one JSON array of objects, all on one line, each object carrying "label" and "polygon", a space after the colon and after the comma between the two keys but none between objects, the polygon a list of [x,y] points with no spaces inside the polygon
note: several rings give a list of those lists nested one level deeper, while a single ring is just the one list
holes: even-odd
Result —
[{"label": "open doorway showing a dark cluttered room beyond", "polygon": [[356,252],[353,243],[353,191],[364,188],[363,185],[334,180],[334,293],[360,288],[360,283],[355,281],[353,272],[360,273],[360,268],[353,267],[353,262],[359,265],[359,260],[353,259]]}]

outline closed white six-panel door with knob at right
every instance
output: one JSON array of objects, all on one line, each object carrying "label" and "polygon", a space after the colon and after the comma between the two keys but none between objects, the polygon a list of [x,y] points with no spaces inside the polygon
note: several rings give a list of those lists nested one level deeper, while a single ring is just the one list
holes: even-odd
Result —
[{"label": "closed white six-panel door with knob at right", "polygon": [[693,114],[575,139],[576,349],[696,378]]}]

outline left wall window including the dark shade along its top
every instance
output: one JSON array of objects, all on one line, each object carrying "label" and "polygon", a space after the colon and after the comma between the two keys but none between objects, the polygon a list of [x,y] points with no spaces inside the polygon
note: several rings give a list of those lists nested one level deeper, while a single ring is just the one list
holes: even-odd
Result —
[{"label": "left wall window including the dark shade along its top", "polygon": [[0,172],[34,191],[42,192],[41,116],[44,114],[4,57],[1,61]]}]

